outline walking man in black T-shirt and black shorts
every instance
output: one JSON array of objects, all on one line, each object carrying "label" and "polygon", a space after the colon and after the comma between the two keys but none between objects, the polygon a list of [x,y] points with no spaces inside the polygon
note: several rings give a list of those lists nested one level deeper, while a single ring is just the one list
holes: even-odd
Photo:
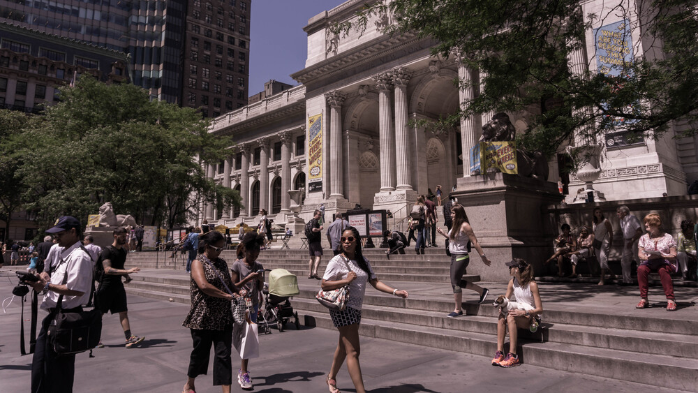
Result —
[{"label": "walking man in black T-shirt and black shorts", "polygon": [[[111,246],[105,247],[99,255],[97,261],[97,275],[99,288],[95,292],[95,306],[103,314],[111,311],[112,314],[119,313],[121,327],[124,328],[126,336],[126,348],[131,348],[140,343],[145,337],[138,337],[131,334],[131,324],[128,322],[128,312],[126,307],[126,290],[121,276],[126,276],[126,283],[131,281],[128,274],[140,271],[138,267],[124,269],[126,263],[126,230],[124,228],[114,229],[114,242]],[[102,343],[98,347],[103,347]]]}]

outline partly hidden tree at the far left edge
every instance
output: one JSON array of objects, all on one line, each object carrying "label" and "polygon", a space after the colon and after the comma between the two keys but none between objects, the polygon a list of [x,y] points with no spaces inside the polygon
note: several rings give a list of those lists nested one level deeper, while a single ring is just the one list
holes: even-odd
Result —
[{"label": "partly hidden tree at the far left edge", "polygon": [[8,239],[12,214],[22,206],[25,191],[22,179],[15,176],[23,159],[14,154],[15,145],[10,141],[22,133],[30,117],[23,112],[0,110],[0,220],[5,222],[5,239],[0,239],[1,242]]}]

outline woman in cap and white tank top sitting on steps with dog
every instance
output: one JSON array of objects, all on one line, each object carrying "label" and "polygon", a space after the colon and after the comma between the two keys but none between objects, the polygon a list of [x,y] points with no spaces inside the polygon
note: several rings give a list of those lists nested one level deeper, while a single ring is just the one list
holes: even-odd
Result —
[{"label": "woman in cap and white tank top sitting on steps with dog", "polygon": [[[517,355],[517,334],[519,328],[530,329],[535,332],[540,325],[540,314],[543,313],[543,304],[540,302],[538,284],[533,280],[533,267],[521,258],[514,258],[506,263],[509,267],[509,275],[512,279],[507,286],[505,297],[509,299],[514,294],[514,301],[528,304],[529,311],[520,309],[510,310],[505,316],[499,314],[497,322],[497,352],[492,359],[493,366],[513,367],[521,364]],[[504,356],[504,339],[509,330],[509,353]]]}]

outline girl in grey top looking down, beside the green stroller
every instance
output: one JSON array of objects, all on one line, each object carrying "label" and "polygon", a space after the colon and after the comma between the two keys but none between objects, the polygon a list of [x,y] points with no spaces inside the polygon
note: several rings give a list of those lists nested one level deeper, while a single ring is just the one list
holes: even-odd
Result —
[{"label": "girl in grey top looking down, beside the green stroller", "polygon": [[[245,302],[250,309],[250,320],[257,322],[257,313],[260,309],[260,295],[264,288],[264,274],[260,271],[264,270],[262,264],[257,262],[260,256],[260,247],[264,243],[263,234],[248,232],[242,237],[240,245],[237,246],[237,260],[232,264],[230,276],[232,281],[239,288],[247,291]],[[252,377],[247,370],[249,359],[242,359],[240,370],[237,373],[237,383],[245,390],[251,390]]]}]

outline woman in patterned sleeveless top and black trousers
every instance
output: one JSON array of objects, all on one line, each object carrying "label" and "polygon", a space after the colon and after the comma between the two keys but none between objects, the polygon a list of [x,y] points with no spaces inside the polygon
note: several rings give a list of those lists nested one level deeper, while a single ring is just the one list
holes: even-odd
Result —
[{"label": "woman in patterned sleeveless top and black trousers", "polygon": [[223,393],[230,392],[232,383],[233,319],[230,311],[232,297],[244,295],[228,273],[228,265],[220,258],[225,248],[225,237],[213,231],[199,238],[199,255],[191,264],[191,309],[184,319],[184,327],[191,329],[194,349],[189,357],[184,393],[195,392],[195,378],[206,374],[209,353],[214,346],[214,385],[221,385]]}]

